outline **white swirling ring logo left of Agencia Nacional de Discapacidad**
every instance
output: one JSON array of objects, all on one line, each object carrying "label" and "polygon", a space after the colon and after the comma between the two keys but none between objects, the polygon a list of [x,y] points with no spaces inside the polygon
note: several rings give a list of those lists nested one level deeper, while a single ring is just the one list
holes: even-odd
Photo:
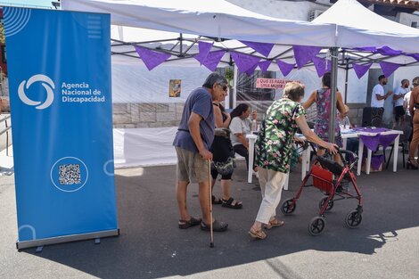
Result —
[{"label": "white swirling ring logo left of Agencia Nacional de Discapacidad", "polygon": [[[44,103],[39,101],[33,101],[28,98],[25,93],[25,89],[28,90],[29,86],[31,86],[34,82],[40,81],[42,82],[42,86],[44,86],[46,90],[46,100]],[[26,84],[26,86],[25,86]],[[53,84],[53,80],[51,78],[46,77],[45,75],[35,75],[29,78],[28,82],[23,80],[19,85],[18,94],[21,98],[21,102],[26,103],[28,105],[36,105],[37,110],[46,109],[53,103],[53,89],[55,89],[55,85]]]}]

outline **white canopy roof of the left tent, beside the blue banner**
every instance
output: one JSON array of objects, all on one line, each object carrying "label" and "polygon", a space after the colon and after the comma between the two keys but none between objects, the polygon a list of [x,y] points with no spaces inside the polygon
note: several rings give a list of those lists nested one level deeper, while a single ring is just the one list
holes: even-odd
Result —
[{"label": "white canopy roof of the left tent, beside the blue banner", "polygon": [[64,10],[109,12],[111,23],[282,45],[335,45],[333,24],[287,21],[224,0],[62,0]]}]

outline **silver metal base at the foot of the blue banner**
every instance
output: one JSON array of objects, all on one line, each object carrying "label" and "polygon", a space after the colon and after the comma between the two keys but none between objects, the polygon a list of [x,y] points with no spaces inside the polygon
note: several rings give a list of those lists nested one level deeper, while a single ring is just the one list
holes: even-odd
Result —
[{"label": "silver metal base at the foot of the blue banner", "polygon": [[44,245],[51,245],[51,244],[58,244],[64,242],[78,242],[78,241],[85,241],[88,239],[98,239],[103,237],[111,237],[111,236],[118,236],[119,235],[119,228],[109,231],[100,231],[94,233],[87,233],[87,234],[70,234],[64,236],[57,236],[51,238],[43,238],[35,241],[25,241],[25,242],[16,242],[16,249],[22,250],[31,247],[38,247]]}]

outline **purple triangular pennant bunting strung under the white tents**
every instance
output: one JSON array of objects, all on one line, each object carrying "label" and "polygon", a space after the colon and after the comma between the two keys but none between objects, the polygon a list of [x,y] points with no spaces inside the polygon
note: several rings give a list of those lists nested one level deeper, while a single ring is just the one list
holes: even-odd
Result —
[{"label": "purple triangular pennant bunting strung under the white tents", "polygon": [[[267,43],[255,43],[255,42],[248,42],[248,41],[241,41],[243,45],[247,45],[251,47],[256,52],[268,56],[271,52],[274,44],[267,44]],[[198,42],[198,49],[199,53],[193,55],[193,58],[196,59],[201,65],[207,67],[209,70],[214,71],[217,69],[218,62],[220,62],[221,58],[226,54],[226,50],[217,50],[212,51],[212,43],[207,42]],[[162,62],[168,60],[171,54],[168,53],[160,53],[156,51],[152,51],[148,48],[135,45],[136,53],[141,57],[145,66],[148,70],[152,70],[155,67],[159,66]],[[306,65],[308,62],[313,62],[318,77],[323,77],[323,75],[332,70],[332,62],[325,58],[319,58],[316,55],[320,53],[322,47],[319,46],[307,46],[307,45],[292,45],[292,51],[294,53],[295,63],[287,63],[283,62],[279,59],[276,59],[275,62],[278,65],[279,70],[283,73],[283,77],[288,76],[290,72],[297,66],[298,69],[301,69]],[[367,51],[371,53],[380,53],[382,55],[388,56],[396,56],[400,54],[404,54],[407,56],[411,56],[415,58],[417,62],[419,62],[419,54],[416,53],[403,53],[398,50],[393,50],[388,46],[382,46],[379,48],[376,47],[359,47],[354,48],[352,50],[355,51]],[[255,57],[246,53],[239,53],[239,52],[230,52],[231,57],[233,58],[237,69],[241,72],[246,73],[247,75],[253,74],[254,70],[259,66],[259,69],[262,71],[267,71],[271,64],[271,60],[264,60],[259,57]],[[390,77],[390,75],[400,67],[399,64],[391,63],[391,62],[379,62],[380,67],[382,68],[382,72],[386,77]],[[353,69],[357,74],[357,78],[362,78],[366,72],[370,69],[372,63],[368,64],[353,64]]]}]

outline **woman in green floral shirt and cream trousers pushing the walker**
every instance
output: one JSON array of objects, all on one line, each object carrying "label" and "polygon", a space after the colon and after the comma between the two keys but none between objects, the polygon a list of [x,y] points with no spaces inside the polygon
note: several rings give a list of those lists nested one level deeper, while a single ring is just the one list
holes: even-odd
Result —
[{"label": "woman in green floral shirt and cream trousers pushing the walker", "polygon": [[293,141],[300,141],[294,137],[297,127],[300,127],[308,141],[325,147],[333,154],[338,150],[336,144],[326,143],[308,127],[306,111],[300,104],[303,97],[304,86],[297,82],[287,83],[283,89],[283,98],[271,104],[262,121],[255,145],[262,202],[249,230],[251,238],[265,239],[267,234],[264,228],[283,226],[283,221],[275,217],[275,210],[288,176]]}]

